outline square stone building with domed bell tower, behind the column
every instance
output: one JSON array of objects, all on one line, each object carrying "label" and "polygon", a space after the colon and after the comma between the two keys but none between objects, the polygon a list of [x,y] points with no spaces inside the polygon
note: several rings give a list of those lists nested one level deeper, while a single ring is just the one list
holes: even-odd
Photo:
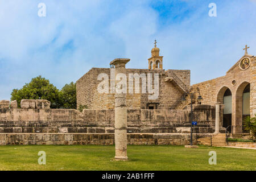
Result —
[{"label": "square stone building with domed bell tower, behind the column", "polygon": [[[159,56],[159,48],[152,49],[152,57],[148,59],[149,69],[126,69],[127,87],[130,82],[133,84],[133,92],[127,91],[127,107],[134,109],[177,109],[181,104],[181,97],[190,87],[190,71],[163,69],[163,56]],[[111,78],[111,68],[92,68],[77,82],[77,107],[88,106],[88,109],[114,109],[114,93],[99,93],[98,85],[102,81],[98,76],[102,73]],[[135,84],[135,78],[130,75],[146,76],[146,80],[139,78],[139,85]],[[152,88],[155,88],[155,74],[159,77],[159,96],[150,100],[151,93],[148,93],[148,76],[151,74]],[[108,85],[111,85],[109,79]],[[139,93],[135,90],[139,89]],[[146,91],[143,93],[142,90]]]}]

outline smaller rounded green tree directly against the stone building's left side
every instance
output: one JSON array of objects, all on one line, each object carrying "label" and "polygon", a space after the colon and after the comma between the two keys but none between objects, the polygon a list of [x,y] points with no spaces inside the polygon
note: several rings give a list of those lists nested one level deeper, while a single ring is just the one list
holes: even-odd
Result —
[{"label": "smaller rounded green tree directly against the stone building's left side", "polygon": [[60,91],[61,94],[61,108],[76,109],[76,84],[71,82],[65,84]]}]

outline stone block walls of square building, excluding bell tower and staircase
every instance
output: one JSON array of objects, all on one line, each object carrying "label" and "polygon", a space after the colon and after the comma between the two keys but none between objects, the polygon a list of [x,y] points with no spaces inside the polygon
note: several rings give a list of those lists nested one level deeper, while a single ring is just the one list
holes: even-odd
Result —
[{"label": "stone block walls of square building, excluding bell tower and staircase", "polygon": [[[149,103],[159,103],[158,109],[176,109],[181,102],[182,92],[176,85],[171,82],[165,82],[168,72],[173,72],[175,75],[187,85],[190,86],[190,71],[189,70],[167,70],[162,69],[126,69],[127,71],[127,88],[129,86],[129,73],[159,73],[159,97],[157,100],[148,100],[148,92],[146,94],[141,92],[142,81],[140,80],[140,92],[129,94],[127,92],[127,107],[133,109],[147,109]],[[92,68],[88,73],[82,76],[77,82],[77,107],[80,105],[87,105],[89,109],[114,109],[114,94],[112,93],[98,93],[97,86],[101,80],[97,77],[100,73],[106,73],[110,79],[110,68]],[[134,84],[135,85],[135,84]],[[146,83],[147,85],[147,83]],[[154,78],[152,78],[152,86],[154,88]],[[109,80],[110,87],[110,80]],[[135,90],[135,87],[134,87]]]}]

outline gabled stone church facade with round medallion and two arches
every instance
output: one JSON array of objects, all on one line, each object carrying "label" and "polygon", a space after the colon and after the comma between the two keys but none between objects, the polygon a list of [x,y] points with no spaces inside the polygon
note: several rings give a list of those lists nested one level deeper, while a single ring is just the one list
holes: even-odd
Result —
[{"label": "gabled stone church facade with round medallion and two arches", "polygon": [[201,104],[224,105],[223,126],[233,133],[243,133],[243,119],[255,117],[255,56],[245,54],[225,76],[192,85],[200,89]]}]

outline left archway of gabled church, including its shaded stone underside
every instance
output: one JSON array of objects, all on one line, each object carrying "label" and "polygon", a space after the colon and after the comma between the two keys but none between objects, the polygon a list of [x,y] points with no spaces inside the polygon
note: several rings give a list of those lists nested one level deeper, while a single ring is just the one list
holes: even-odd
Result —
[{"label": "left archway of gabled church, including its shaded stone underside", "polygon": [[232,131],[232,92],[227,86],[223,86],[217,94],[217,102],[224,105],[222,115],[222,127]]}]

